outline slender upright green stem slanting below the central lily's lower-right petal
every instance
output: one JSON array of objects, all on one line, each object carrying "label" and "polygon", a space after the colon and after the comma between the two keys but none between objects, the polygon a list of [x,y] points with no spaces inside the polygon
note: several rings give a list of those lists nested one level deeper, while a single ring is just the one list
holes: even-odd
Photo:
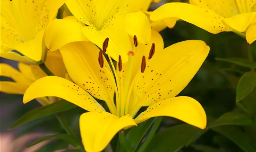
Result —
[{"label": "slender upright green stem slanting below the central lily's lower-right petal", "polygon": [[152,140],[156,131],[158,130],[158,127],[160,126],[160,123],[161,123],[162,119],[163,119],[163,117],[158,117],[158,118],[155,119],[155,122],[152,126],[152,129],[150,130],[150,133],[148,134],[145,142],[140,146],[140,149],[138,150],[138,152],[144,152],[146,150],[150,141]]}]

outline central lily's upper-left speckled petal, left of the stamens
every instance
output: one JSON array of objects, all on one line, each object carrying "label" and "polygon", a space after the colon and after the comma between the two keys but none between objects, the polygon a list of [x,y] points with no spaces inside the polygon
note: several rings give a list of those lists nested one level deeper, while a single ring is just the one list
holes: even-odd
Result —
[{"label": "central lily's upper-left speckled petal, left of the stamens", "polygon": [[99,49],[91,42],[73,42],[60,48],[70,78],[95,98],[104,100],[110,111],[114,105],[115,79],[107,60],[104,66],[98,63]]}]

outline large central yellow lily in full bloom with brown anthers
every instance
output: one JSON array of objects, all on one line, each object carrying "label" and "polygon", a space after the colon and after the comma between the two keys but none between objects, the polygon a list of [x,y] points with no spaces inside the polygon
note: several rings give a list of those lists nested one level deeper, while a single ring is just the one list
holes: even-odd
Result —
[{"label": "large central yellow lily in full bloom with brown anthers", "polygon": [[[128,62],[123,63],[119,56],[116,70],[103,55],[108,38],[103,50],[85,41],[65,45],[60,52],[75,83],[57,76],[41,78],[27,89],[23,103],[56,96],[89,111],[80,116],[87,152],[102,151],[119,130],[151,117],[171,116],[204,129],[206,114],[200,103],[190,97],[175,96],[201,67],[209,47],[203,41],[188,40],[163,49],[162,37],[154,30],[148,45],[138,43],[136,36],[133,40],[133,49],[126,52]],[[110,113],[92,96],[104,100]],[[148,109],[133,119],[144,106]]]}]

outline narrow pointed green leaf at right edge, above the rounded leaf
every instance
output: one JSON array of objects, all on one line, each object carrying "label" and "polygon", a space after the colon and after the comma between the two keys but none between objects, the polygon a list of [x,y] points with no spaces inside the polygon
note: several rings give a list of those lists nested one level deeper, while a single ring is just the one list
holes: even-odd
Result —
[{"label": "narrow pointed green leaf at right edge, above the rounded leaf", "polygon": [[243,59],[243,58],[215,58],[215,60],[219,60],[219,61],[224,61],[224,62],[229,62],[229,63],[233,63],[236,65],[240,65],[243,67],[249,67],[249,68],[256,68],[256,63]]}]

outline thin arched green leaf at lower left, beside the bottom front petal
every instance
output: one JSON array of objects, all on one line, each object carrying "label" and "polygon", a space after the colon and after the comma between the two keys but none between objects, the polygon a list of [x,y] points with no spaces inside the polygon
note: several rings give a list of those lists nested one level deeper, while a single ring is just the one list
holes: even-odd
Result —
[{"label": "thin arched green leaf at lower left, beside the bottom front petal", "polygon": [[45,140],[49,140],[52,138],[58,138],[61,140],[66,141],[67,143],[70,143],[71,145],[73,145],[76,148],[81,148],[82,147],[82,143],[80,140],[78,140],[76,137],[71,136],[69,134],[56,134],[56,135],[51,135],[51,136],[45,136],[43,138],[40,138],[38,140],[36,140],[34,143],[32,143],[31,145],[27,146],[27,148],[36,145],[37,143],[41,143],[42,141]]}]

